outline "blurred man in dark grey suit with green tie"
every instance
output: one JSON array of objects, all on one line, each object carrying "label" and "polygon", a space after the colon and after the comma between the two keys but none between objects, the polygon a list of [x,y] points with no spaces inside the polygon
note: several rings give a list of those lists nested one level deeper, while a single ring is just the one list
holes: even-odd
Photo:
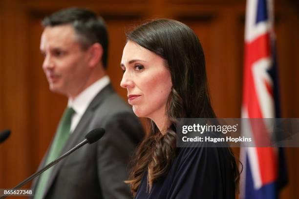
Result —
[{"label": "blurred man in dark grey suit with green tie", "polygon": [[41,51],[50,90],[68,97],[44,166],[105,128],[97,143],[85,145],[33,183],[35,199],[128,199],[128,161],[143,137],[139,120],[113,90],[107,66],[107,30],[93,12],[68,8],[43,20]]}]

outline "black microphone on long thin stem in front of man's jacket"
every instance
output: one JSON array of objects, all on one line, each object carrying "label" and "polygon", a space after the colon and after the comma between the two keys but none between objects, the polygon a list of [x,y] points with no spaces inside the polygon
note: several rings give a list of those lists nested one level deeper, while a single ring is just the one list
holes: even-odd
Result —
[{"label": "black microphone on long thin stem in front of man's jacket", "polygon": [[[73,153],[74,151],[76,151],[77,149],[82,147],[83,145],[85,145],[87,143],[92,144],[92,143],[98,141],[99,139],[101,139],[103,137],[104,133],[105,133],[105,129],[103,129],[103,128],[96,128],[96,129],[93,129],[93,130],[89,131],[89,133],[86,134],[85,139],[82,142],[77,144],[74,148],[70,149],[68,152],[66,152],[64,155],[62,155],[58,159],[55,159],[54,161],[50,162],[49,164],[47,164],[45,167],[43,167],[39,171],[37,171],[34,174],[32,174],[31,176],[29,176],[27,179],[21,181],[17,186],[12,188],[12,190],[20,188],[21,186],[23,186],[24,184],[26,184],[30,180],[32,180],[32,179],[36,178],[37,176],[41,175],[45,170],[47,170],[48,168],[54,166],[60,160],[64,159],[66,156]],[[8,195],[2,195],[0,197],[0,199],[4,199],[7,196]]]}]

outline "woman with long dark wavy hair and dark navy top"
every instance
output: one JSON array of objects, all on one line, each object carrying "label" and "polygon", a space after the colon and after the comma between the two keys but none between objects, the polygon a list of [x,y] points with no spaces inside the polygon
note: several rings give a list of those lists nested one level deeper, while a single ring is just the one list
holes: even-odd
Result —
[{"label": "woman with long dark wavy hair and dark navy top", "polygon": [[188,26],[153,20],[127,34],[121,86],[149,136],[127,183],[135,199],[233,199],[238,179],[229,148],[176,148],[178,118],[214,118],[201,44]]}]

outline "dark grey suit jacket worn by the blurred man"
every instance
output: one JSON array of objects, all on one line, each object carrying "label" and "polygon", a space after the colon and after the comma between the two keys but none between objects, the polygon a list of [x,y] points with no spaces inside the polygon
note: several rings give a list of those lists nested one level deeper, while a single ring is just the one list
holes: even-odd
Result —
[{"label": "dark grey suit jacket worn by the blurred man", "polygon": [[[43,198],[132,198],[124,180],[128,179],[128,161],[144,134],[140,121],[115,93],[111,84],[89,104],[62,154],[97,127],[106,130],[103,138],[83,146],[56,164]],[[36,181],[32,187],[36,186]]]}]

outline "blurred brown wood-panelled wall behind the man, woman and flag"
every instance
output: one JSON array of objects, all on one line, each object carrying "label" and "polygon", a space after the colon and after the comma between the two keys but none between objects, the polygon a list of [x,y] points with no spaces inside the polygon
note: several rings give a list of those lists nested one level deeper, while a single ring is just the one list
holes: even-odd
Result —
[{"label": "blurred brown wood-panelled wall behind the man, woman and flag", "polygon": [[[146,19],[187,23],[205,51],[217,116],[240,117],[245,0],[0,0],[0,130],[12,131],[0,145],[0,188],[36,171],[66,105],[48,89],[39,43],[43,17],[69,6],[90,8],[106,20],[108,74],[124,99],[119,63],[125,31]],[[298,0],[276,0],[275,18],[282,117],[299,118]],[[291,199],[299,196],[299,148],[287,148],[286,158],[290,182],[281,195]]]}]

